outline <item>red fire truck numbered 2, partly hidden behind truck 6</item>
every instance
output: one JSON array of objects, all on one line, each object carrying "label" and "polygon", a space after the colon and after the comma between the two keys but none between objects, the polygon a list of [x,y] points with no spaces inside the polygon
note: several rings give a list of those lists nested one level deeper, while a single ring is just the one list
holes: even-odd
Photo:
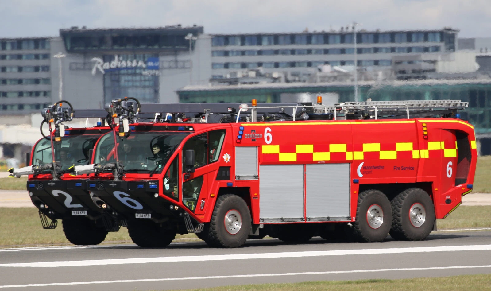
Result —
[{"label": "red fire truck numbered 2, partly hidden behind truck 6", "polygon": [[[27,167],[9,172],[13,177],[29,176],[27,191],[39,209],[44,229],[55,229],[57,220],[61,219],[65,236],[73,244],[99,244],[108,232],[119,230],[119,219],[107,205],[88,193],[85,183],[88,175],[73,175],[73,168],[91,162],[94,145],[111,128],[102,126],[104,119],[95,127],[63,126],[62,122],[72,118],[106,118],[107,115],[105,110],[78,110],[73,116],[73,108],[63,108],[63,103],[67,102],[57,102],[43,110],[46,119],[41,123],[41,134],[44,137],[27,154]],[[55,125],[50,127],[49,136],[43,133],[46,122]]]}]

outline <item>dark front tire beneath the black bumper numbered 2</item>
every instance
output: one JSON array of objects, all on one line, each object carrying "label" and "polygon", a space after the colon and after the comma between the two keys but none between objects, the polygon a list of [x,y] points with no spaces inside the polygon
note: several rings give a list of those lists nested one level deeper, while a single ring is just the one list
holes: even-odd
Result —
[{"label": "dark front tire beneath the black bumper numbered 2", "polygon": [[75,245],[100,244],[108,234],[106,229],[97,227],[94,221],[83,216],[64,218],[61,224],[66,238]]}]

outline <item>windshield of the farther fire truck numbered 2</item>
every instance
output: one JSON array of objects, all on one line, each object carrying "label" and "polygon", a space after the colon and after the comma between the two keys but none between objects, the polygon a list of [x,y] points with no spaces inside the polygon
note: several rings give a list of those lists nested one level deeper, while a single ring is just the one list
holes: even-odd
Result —
[{"label": "windshield of the farther fire truck numbered 2", "polygon": [[[61,171],[68,170],[73,165],[88,165],[89,150],[94,148],[100,136],[100,134],[70,135],[61,138],[61,145],[55,144],[55,157],[56,161],[61,162]],[[32,165],[44,165],[52,161],[51,142],[42,139],[34,148]]]}]

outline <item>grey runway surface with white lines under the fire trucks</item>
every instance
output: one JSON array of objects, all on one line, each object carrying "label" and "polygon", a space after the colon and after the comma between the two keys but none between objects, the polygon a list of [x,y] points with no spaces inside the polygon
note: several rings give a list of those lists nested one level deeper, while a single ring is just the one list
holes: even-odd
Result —
[{"label": "grey runway surface with white lines under the fire trucks", "polygon": [[425,241],[307,244],[248,240],[0,249],[0,290],[172,290],[225,285],[491,273],[491,232],[432,233]]}]

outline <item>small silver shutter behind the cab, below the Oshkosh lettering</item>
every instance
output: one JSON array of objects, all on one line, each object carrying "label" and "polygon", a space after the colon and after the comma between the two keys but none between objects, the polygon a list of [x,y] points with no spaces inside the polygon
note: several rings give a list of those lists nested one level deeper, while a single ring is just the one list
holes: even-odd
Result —
[{"label": "small silver shutter behind the cab, below the Oshkosh lettering", "polygon": [[257,146],[235,147],[235,178],[257,179]]}]

